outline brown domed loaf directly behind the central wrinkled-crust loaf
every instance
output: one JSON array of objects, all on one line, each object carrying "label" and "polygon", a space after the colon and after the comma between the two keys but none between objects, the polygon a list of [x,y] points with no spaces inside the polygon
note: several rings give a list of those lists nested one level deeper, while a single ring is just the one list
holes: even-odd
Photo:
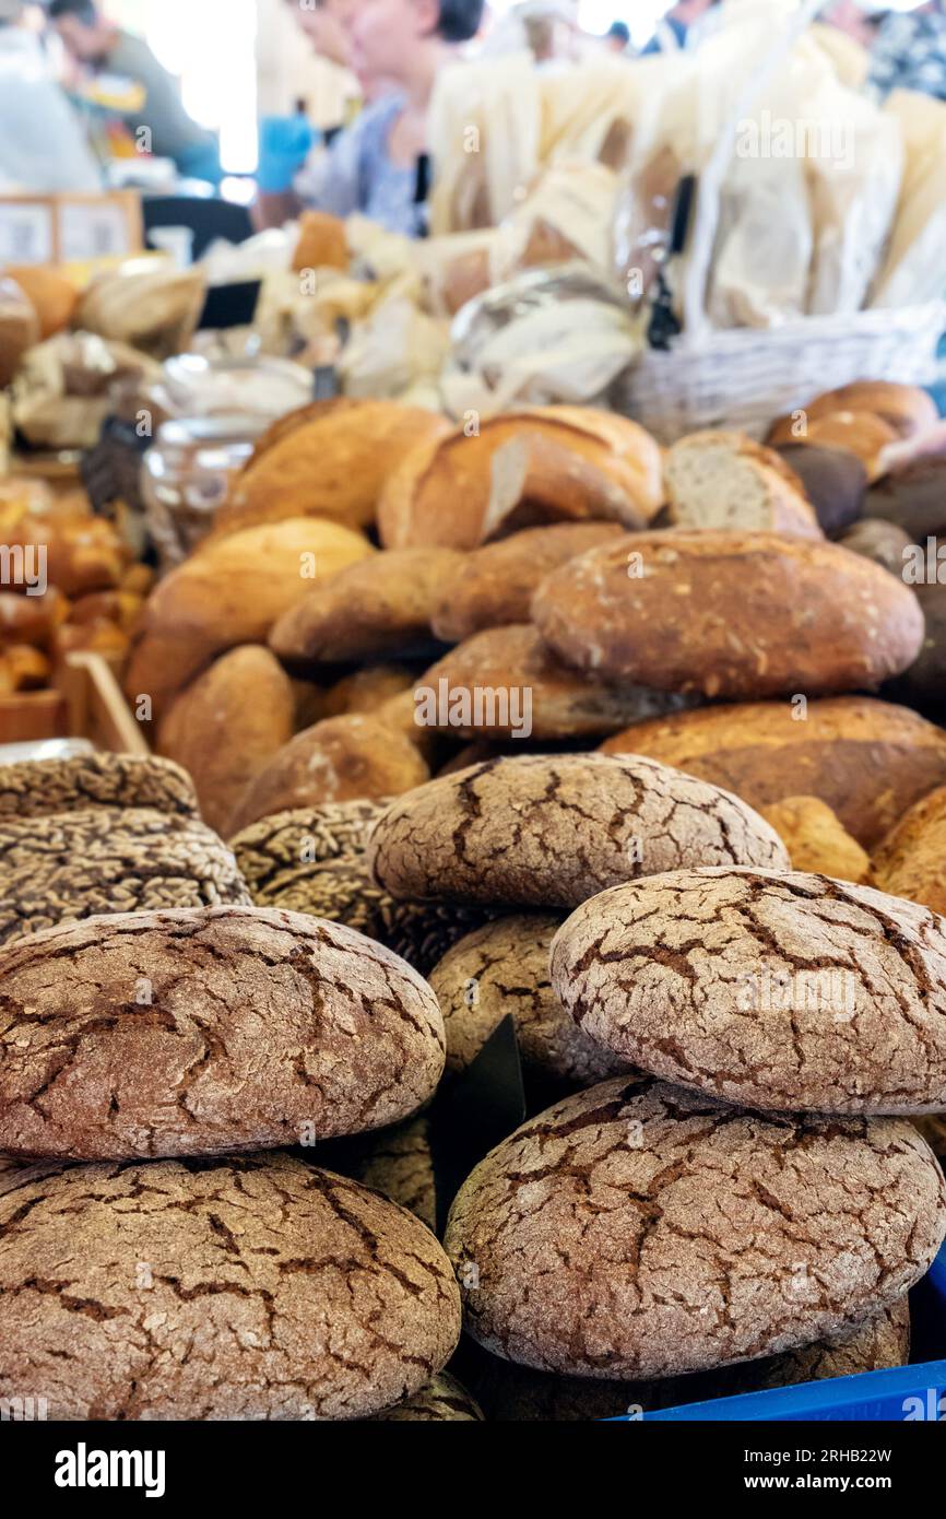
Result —
[{"label": "brown domed loaf directly behind the central wrinkled-crust loaf", "polygon": [[430,772],[407,738],[375,717],[328,717],[285,744],[251,781],[231,817],[231,831],[273,813],[325,802],[399,796]]}]

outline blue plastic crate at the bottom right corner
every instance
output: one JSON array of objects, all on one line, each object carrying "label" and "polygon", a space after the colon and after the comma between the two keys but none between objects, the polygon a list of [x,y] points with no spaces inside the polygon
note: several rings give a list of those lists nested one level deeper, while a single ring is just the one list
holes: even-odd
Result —
[{"label": "blue plastic crate at the bottom right corner", "polygon": [[648,1420],[946,1420],[946,1244],[910,1296],[917,1360],[887,1372],[835,1376],[767,1393],[714,1397],[644,1414]]}]

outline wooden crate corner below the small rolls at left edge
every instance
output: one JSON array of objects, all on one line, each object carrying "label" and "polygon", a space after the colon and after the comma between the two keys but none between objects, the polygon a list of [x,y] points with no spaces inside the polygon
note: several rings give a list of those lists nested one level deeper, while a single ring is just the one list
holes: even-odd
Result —
[{"label": "wooden crate corner below the small rolls at left edge", "polygon": [[44,738],[88,738],[112,753],[150,753],[103,655],[68,655],[53,691],[0,697],[0,744]]}]

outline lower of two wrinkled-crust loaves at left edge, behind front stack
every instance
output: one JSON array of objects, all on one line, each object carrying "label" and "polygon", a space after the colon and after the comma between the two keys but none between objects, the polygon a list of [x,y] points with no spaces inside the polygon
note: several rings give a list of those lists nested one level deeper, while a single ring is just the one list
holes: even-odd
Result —
[{"label": "lower of two wrinkled-crust loaves at left edge, behind front stack", "polygon": [[103,913],[252,905],[231,851],[193,817],[91,808],[0,817],[0,945]]}]

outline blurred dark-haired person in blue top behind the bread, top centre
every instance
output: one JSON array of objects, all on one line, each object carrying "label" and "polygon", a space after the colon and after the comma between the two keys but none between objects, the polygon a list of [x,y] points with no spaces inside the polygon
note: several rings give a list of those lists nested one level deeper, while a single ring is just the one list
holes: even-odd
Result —
[{"label": "blurred dark-haired person in blue top behind the bread, top centre", "polygon": [[392,232],[419,237],[419,164],[437,73],[477,35],[483,0],[357,0],[348,21],[351,65],[366,93],[387,91],[296,179],[305,205],[361,211]]}]

